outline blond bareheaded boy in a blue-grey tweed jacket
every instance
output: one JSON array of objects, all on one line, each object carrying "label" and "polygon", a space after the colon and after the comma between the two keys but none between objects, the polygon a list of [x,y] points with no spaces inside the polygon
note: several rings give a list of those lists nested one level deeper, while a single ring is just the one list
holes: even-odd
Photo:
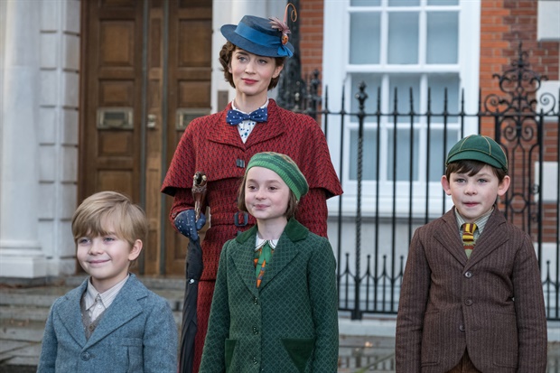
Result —
[{"label": "blond bareheaded boy in a blue-grey tweed jacket", "polygon": [[79,205],[72,233],[89,277],[52,305],[38,372],[176,373],[173,312],[128,272],[146,232],[144,211],[120,193]]}]

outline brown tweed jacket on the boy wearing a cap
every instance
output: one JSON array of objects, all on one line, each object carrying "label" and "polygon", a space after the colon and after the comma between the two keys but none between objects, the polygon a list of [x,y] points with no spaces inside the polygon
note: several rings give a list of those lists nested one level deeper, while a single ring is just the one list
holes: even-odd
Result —
[{"label": "brown tweed jacket on the boy wearing a cap", "polygon": [[546,370],[546,313],[531,238],[495,207],[465,256],[454,208],[418,228],[397,316],[397,372]]}]

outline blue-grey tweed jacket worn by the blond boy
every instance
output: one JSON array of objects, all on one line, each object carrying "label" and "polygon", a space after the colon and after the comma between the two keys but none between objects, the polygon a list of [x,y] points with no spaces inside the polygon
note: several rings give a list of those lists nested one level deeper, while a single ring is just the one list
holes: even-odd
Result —
[{"label": "blue-grey tweed jacket worn by the blond boy", "polygon": [[131,274],[86,340],[79,302],[88,279],[51,307],[37,371],[177,372],[177,325],[162,297]]}]

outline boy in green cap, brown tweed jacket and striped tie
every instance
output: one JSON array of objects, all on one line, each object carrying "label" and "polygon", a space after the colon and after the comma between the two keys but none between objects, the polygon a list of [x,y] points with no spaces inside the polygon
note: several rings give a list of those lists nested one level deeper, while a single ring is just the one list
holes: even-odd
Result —
[{"label": "boy in green cap, brown tweed jacket and striped tie", "polygon": [[496,200],[508,159],[488,136],[453,146],[442,177],[453,208],[415,231],[397,315],[397,372],[546,370],[546,313],[527,233]]}]

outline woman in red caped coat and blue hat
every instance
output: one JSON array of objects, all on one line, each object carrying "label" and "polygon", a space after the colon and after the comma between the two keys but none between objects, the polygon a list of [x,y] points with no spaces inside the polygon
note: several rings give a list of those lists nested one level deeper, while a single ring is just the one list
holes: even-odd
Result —
[{"label": "woman in red caped coat and blue hat", "polygon": [[187,126],[162,187],[163,193],[173,196],[173,226],[184,236],[198,239],[205,217],[194,219],[192,176],[196,172],[207,175],[201,210],[210,208],[210,228],[201,243],[204,270],[199,283],[195,372],[201,362],[221,248],[255,224],[237,206],[238,187],[253,154],[274,151],[298,164],[309,192],[300,201],[296,219],[315,234],[327,236],[326,200],[342,193],[321,126],[312,117],[278,107],[268,98],[285,59],[294,51],[287,42],[285,24],[246,15],[238,25],[222,26],[221,33],[228,42],[219,52],[219,61],[236,97],[223,111],[194,119]]}]

